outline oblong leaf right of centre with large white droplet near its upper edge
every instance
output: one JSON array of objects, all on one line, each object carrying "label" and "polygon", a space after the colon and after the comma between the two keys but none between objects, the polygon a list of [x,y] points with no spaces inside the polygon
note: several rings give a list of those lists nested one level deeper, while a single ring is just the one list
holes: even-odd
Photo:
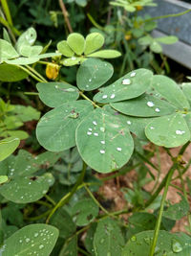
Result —
[{"label": "oblong leaf right of centre with large white droplet near its upper edge", "polygon": [[152,77],[152,72],[147,69],[132,71],[111,85],[100,88],[94,101],[106,104],[136,98],[149,88]]}]

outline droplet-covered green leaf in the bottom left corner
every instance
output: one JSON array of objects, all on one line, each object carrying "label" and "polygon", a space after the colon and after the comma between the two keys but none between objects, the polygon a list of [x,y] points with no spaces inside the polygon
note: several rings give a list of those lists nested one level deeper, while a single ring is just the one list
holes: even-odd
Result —
[{"label": "droplet-covered green leaf in the bottom left corner", "polygon": [[16,231],[1,247],[2,256],[49,256],[58,238],[57,228],[31,224]]}]

